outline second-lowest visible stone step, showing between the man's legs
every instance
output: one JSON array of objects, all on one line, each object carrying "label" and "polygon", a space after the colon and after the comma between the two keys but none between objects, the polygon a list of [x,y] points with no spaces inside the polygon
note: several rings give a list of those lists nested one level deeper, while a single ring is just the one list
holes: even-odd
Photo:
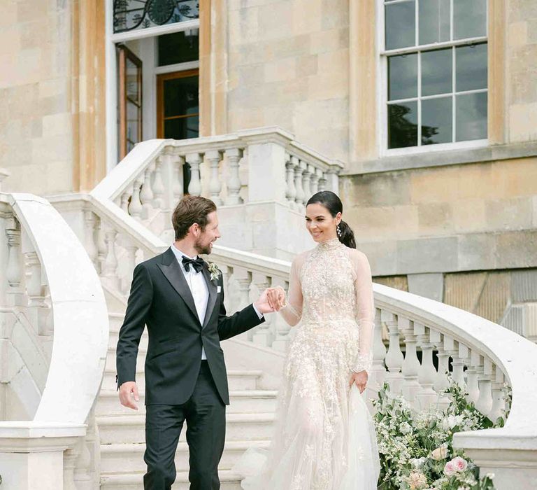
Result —
[{"label": "second-lowest visible stone step, showing between the man's legs", "polygon": [[[220,470],[229,470],[238,461],[246,449],[257,447],[268,449],[270,441],[227,441],[224,454],[220,460]],[[143,453],[145,444],[102,444],[101,475],[109,473],[134,473],[145,471]],[[179,442],[176,452],[176,468],[178,471],[188,470],[188,446],[185,441]]]}]

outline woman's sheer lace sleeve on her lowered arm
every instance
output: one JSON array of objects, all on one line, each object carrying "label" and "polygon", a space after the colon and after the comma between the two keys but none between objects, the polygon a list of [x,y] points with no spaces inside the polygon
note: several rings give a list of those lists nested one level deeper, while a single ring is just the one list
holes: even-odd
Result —
[{"label": "woman's sheer lace sleeve on her lowered arm", "polygon": [[371,268],[366,255],[359,251],[352,254],[352,261],[356,272],[356,321],[359,328],[359,352],[352,370],[369,372],[373,362],[373,328],[375,326]]}]

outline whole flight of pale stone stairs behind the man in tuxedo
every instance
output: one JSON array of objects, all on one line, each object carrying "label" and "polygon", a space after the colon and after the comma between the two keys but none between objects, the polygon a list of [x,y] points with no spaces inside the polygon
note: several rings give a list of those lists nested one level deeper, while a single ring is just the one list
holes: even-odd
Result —
[{"label": "whole flight of pale stone stairs behind the man in tuxedo", "polygon": [[[103,384],[96,402],[96,423],[101,440],[101,489],[143,489],[145,463],[145,380],[143,366],[147,351],[144,333],[136,363],[136,381],[140,391],[139,410],[120,405],[115,388],[115,346],[123,314],[110,313],[110,342]],[[277,392],[259,389],[262,372],[229,370],[226,444],[220,461],[222,490],[241,489],[238,475],[231,468],[248,447],[266,448],[271,439]],[[174,490],[188,489],[188,447],[183,428],[176,452],[177,479]]]}]

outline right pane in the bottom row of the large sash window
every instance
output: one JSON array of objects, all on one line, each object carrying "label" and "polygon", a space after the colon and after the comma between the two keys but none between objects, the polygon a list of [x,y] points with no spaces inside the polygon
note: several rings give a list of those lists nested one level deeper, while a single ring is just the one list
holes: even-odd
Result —
[{"label": "right pane in the bottom row of the large sash window", "polygon": [[457,95],[457,141],[487,137],[487,92]]}]

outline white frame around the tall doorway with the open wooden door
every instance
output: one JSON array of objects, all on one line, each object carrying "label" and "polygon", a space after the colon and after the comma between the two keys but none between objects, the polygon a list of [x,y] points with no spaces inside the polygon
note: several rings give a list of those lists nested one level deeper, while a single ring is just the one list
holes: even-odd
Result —
[{"label": "white frame around the tall doorway with the open wooden door", "polygon": [[[135,39],[149,38],[162,36],[162,34],[172,34],[174,32],[187,31],[189,29],[199,29],[199,18],[192,20],[185,20],[184,22],[174,22],[173,24],[166,24],[162,26],[146,27],[145,29],[134,29],[132,31],[117,32],[114,34],[113,30],[113,1],[105,2],[105,28],[106,28],[106,46],[105,46],[105,63],[106,63],[106,172],[110,172],[117,165],[117,69],[115,61],[115,45],[117,43],[124,43],[126,41],[134,41]],[[156,45],[156,43],[154,43]],[[155,55],[156,59],[156,55]],[[192,66],[192,64],[197,66]],[[150,114],[150,110],[146,112],[146,103],[152,104],[152,108],[156,106],[156,76],[157,73],[166,73],[168,71],[178,71],[178,69],[187,69],[199,67],[199,60],[197,62],[180,63],[176,65],[167,66],[143,66],[143,76],[150,70],[151,78],[145,78],[144,83],[148,83],[150,80],[151,90],[154,94],[155,101],[143,99],[144,114]],[[143,90],[143,94],[146,94],[146,90]],[[155,115],[151,116],[154,120]],[[145,118],[144,118],[145,121]],[[150,120],[148,120],[150,123]],[[143,123],[144,138],[146,138],[145,130],[147,128],[146,123]]]}]

